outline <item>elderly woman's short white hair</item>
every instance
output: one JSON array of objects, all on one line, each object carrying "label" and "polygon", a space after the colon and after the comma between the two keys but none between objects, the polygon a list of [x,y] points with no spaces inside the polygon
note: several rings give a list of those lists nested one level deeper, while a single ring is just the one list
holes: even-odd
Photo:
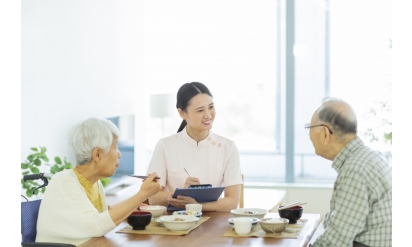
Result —
[{"label": "elderly woman's short white hair", "polygon": [[119,136],[119,129],[111,121],[92,117],[76,125],[69,135],[69,144],[78,165],[90,162],[93,149],[109,152],[113,136]]}]

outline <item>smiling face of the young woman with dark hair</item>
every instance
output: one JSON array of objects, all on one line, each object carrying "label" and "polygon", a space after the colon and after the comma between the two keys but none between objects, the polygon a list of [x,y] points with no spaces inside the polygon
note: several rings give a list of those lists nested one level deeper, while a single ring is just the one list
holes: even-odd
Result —
[{"label": "smiling face of the young woman with dark hair", "polygon": [[179,114],[186,120],[188,132],[209,131],[216,115],[213,98],[205,93],[197,94],[190,100],[186,111],[179,108]]}]

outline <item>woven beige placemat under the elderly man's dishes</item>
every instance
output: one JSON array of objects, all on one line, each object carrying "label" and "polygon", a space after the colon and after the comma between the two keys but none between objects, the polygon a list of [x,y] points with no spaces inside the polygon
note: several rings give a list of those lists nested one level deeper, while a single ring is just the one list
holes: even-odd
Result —
[{"label": "woven beige placemat under the elderly man's dishes", "polygon": [[299,219],[296,224],[288,224],[286,229],[280,233],[266,233],[260,227],[260,223],[258,223],[252,231],[247,235],[238,235],[235,232],[234,228],[231,228],[225,234],[224,237],[260,237],[260,238],[298,238],[300,232],[302,231],[303,227],[305,226],[307,219]]}]

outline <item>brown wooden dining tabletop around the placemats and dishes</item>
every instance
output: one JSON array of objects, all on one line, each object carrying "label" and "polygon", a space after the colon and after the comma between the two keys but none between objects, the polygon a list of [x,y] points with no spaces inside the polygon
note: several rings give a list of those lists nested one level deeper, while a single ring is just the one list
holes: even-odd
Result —
[{"label": "brown wooden dining tabletop around the placemats and dishes", "polygon": [[[172,212],[167,212],[171,214]],[[309,243],[321,220],[320,214],[303,214],[302,219],[308,219],[297,239],[276,239],[258,237],[224,237],[223,234],[230,230],[228,222],[233,217],[230,212],[203,212],[209,216],[206,222],[183,236],[145,235],[116,233],[127,226],[122,222],[115,229],[103,237],[92,238],[79,247],[128,247],[128,246],[168,246],[168,247],[224,247],[224,246],[293,246],[305,247]],[[279,217],[277,213],[268,213],[265,217]]]}]

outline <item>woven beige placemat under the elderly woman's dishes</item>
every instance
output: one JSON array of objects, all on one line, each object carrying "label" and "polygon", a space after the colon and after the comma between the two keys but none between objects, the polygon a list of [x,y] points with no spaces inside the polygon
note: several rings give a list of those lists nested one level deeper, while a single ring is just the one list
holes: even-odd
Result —
[{"label": "woven beige placemat under the elderly woman's dishes", "polygon": [[192,228],[186,231],[172,232],[172,231],[169,231],[166,227],[160,226],[158,223],[152,220],[152,222],[150,222],[150,224],[146,226],[145,230],[133,230],[131,226],[126,226],[125,228],[117,231],[116,233],[158,234],[158,235],[181,236],[181,235],[186,235],[192,230],[196,229],[198,226],[203,224],[203,222],[205,222],[209,218],[210,217],[200,217],[200,219],[196,222],[196,224]]}]

